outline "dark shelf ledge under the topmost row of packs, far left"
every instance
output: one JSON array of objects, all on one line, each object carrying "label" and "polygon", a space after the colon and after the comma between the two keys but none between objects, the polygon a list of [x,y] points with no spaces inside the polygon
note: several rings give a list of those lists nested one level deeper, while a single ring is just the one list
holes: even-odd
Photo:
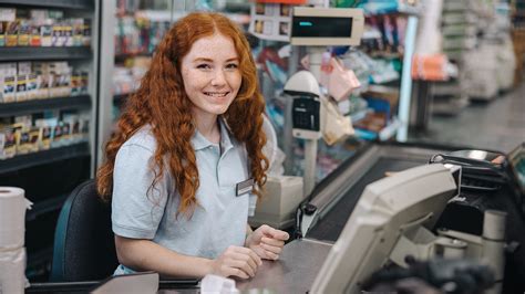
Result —
[{"label": "dark shelf ledge under the topmost row of packs, far left", "polygon": [[93,53],[89,46],[1,46],[0,61],[87,60]]}]

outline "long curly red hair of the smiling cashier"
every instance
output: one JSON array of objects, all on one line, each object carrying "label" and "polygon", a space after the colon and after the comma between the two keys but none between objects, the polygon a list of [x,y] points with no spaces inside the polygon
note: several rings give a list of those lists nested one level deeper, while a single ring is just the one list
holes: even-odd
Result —
[{"label": "long curly red hair of the smiling cashier", "polygon": [[174,176],[175,188],[181,195],[178,212],[193,211],[197,204],[195,193],[199,187],[195,151],[191,144],[196,129],[191,112],[193,104],[184,90],[181,63],[195,41],[216,32],[231,39],[239,57],[241,85],[237,97],[223,116],[235,139],[246,146],[251,177],[257,183],[254,192],[260,197],[268,169],[268,159],[261,151],[266,144],[262,132],[265,101],[259,93],[248,41],[241,30],[226,17],[195,12],[178,20],[166,33],[138,91],[128,97],[119,118],[117,129],[105,146],[105,162],[96,172],[96,188],[102,199],[111,200],[115,157],[120,147],[148,124],[157,143],[154,162],[150,162],[155,177],[148,191],[154,189],[167,168]]}]

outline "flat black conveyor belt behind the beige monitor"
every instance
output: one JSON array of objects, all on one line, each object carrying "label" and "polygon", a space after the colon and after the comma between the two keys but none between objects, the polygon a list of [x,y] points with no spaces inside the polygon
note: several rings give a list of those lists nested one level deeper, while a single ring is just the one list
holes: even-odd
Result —
[{"label": "flat black conveyor belt behind the beige monitor", "polygon": [[418,159],[380,158],[331,211],[310,229],[308,237],[336,242],[367,185],[383,178],[387,171],[401,171],[424,164]]}]

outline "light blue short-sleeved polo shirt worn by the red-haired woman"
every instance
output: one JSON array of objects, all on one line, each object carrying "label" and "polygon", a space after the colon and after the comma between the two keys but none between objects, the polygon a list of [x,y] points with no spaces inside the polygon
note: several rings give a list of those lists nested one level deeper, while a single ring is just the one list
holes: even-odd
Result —
[{"label": "light blue short-sleeved polo shirt worn by the red-haired woman", "polygon": [[[222,118],[219,125],[220,145],[198,132],[192,137],[200,186],[191,219],[184,213],[177,216],[181,198],[167,169],[155,189],[148,190],[156,148],[151,127],[144,126],[122,145],[113,174],[115,234],[148,239],[177,253],[207,259],[217,258],[229,245],[244,245],[248,210],[254,210],[257,198],[250,193],[236,196],[236,185],[248,179],[247,155]],[[120,265],[115,274],[131,272]]]}]

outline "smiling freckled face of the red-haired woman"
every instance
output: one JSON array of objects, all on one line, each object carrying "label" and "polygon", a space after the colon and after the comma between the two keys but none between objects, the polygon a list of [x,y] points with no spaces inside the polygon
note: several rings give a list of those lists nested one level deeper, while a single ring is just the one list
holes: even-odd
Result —
[{"label": "smiling freckled face of the red-haired woman", "polygon": [[181,71],[197,118],[224,114],[243,80],[234,42],[219,33],[195,41]]}]

